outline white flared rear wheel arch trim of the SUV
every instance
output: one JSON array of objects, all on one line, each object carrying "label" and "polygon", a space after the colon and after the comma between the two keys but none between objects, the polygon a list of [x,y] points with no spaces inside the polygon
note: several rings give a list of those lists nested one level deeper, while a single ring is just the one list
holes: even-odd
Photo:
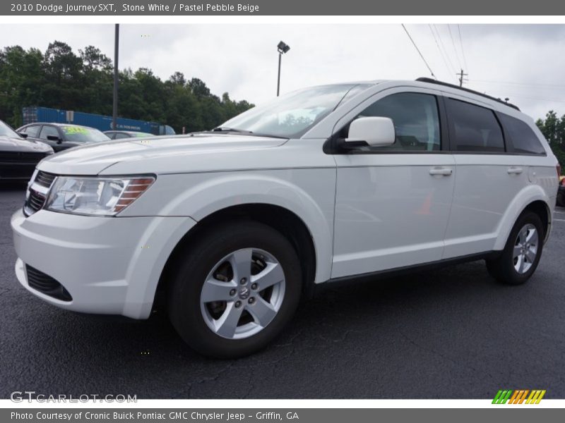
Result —
[{"label": "white flared rear wheel arch trim of the SUV", "polygon": [[528,207],[528,204],[531,204],[535,201],[542,201],[546,205],[549,213],[547,214],[547,222],[548,222],[548,231],[546,234],[549,236],[549,231],[552,227],[552,219],[553,219],[553,207],[549,197],[547,196],[546,192],[540,185],[528,185],[523,190],[518,192],[518,195],[514,197],[514,200],[509,204],[509,207],[506,208],[506,212],[504,212],[504,216],[500,219],[499,227],[497,228],[498,236],[496,237],[496,243],[494,243],[494,250],[504,250],[504,246],[506,245],[506,241],[512,231],[514,223],[518,219],[518,216],[522,214],[524,209]]}]

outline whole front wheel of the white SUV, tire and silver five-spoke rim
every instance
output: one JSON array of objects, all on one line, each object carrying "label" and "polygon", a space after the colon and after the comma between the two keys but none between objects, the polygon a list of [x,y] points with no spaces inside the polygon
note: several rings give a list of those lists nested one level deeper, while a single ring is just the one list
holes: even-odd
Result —
[{"label": "whole front wheel of the white SUV, tire and silver five-spoke rim", "polygon": [[292,318],[302,291],[299,259],[270,226],[220,226],[199,237],[182,258],[169,290],[169,317],[199,353],[249,355]]}]

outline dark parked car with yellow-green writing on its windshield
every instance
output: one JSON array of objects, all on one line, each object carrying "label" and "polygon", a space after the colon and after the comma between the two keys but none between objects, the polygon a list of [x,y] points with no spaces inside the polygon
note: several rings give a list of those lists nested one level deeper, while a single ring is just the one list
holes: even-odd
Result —
[{"label": "dark parked car with yellow-green writing on its windshield", "polygon": [[100,130],[68,123],[30,123],[18,128],[18,133],[27,135],[28,140],[44,142],[51,146],[55,152],[85,145],[89,142],[109,140],[109,137]]}]

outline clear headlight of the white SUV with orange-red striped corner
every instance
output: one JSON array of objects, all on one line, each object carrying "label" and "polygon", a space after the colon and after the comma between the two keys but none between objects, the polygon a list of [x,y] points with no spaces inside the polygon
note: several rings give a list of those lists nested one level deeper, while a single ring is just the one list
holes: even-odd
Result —
[{"label": "clear headlight of the white SUV with orange-red striped corner", "polygon": [[49,190],[45,209],[52,212],[114,216],[155,182],[153,176],[74,178],[58,176]]}]

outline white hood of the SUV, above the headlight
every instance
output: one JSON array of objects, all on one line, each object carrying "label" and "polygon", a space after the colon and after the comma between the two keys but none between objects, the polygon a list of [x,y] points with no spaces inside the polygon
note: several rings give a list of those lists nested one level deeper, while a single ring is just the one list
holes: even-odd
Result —
[{"label": "white hood of the SUV, above the headlight", "polygon": [[254,154],[286,141],[232,134],[125,138],[74,147],[44,159],[39,168],[62,175],[209,171],[218,168],[215,159]]}]

